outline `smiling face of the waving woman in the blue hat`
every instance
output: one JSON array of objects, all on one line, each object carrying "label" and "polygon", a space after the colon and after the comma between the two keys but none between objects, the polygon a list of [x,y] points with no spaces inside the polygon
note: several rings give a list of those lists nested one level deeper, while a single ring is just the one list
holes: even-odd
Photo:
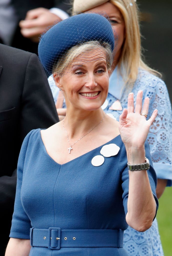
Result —
[{"label": "smiling face of the waving woman in the blue hat", "polygon": [[109,89],[106,54],[96,49],[80,54],[66,68],[61,78],[54,74],[56,85],[62,89],[67,108],[93,111],[104,103]]}]

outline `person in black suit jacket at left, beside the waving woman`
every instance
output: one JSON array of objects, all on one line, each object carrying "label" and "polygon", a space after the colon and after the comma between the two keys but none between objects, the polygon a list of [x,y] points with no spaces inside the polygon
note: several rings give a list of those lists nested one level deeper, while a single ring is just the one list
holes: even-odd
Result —
[{"label": "person in black suit jacket at left, beside the waving woman", "polygon": [[48,128],[58,121],[38,57],[0,44],[0,219],[5,227],[0,232],[0,255],[9,240],[22,142],[32,129]]}]

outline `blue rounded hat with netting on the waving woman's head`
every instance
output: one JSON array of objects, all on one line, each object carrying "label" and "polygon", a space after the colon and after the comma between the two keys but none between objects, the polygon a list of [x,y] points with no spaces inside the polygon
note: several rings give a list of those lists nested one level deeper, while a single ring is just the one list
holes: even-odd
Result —
[{"label": "blue rounded hat with netting on the waving woman's head", "polygon": [[51,27],[41,36],[38,46],[39,59],[46,73],[52,74],[53,65],[70,48],[88,41],[107,42],[113,52],[113,30],[104,16],[95,13],[79,14]]}]

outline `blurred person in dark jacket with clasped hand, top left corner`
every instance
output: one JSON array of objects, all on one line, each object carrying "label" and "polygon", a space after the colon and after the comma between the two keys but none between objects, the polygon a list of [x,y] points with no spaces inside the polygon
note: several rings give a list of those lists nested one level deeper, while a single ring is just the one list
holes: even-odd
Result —
[{"label": "blurred person in dark jacket with clasped hand, top left corner", "polygon": [[37,54],[40,34],[69,8],[69,0],[1,0],[0,42]]}]

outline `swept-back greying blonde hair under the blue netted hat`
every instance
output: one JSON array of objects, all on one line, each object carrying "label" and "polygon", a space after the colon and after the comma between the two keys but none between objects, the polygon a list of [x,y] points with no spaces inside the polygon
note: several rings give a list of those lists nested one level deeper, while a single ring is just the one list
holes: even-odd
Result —
[{"label": "swept-back greying blonde hair under the blue netted hat", "polygon": [[[88,41],[84,43],[80,43],[76,46],[70,48],[63,57],[53,65],[52,73],[57,73],[58,76],[62,76],[65,71],[69,72],[67,69],[68,65],[70,65],[74,59],[76,59],[80,54],[84,54],[91,50],[98,50],[98,48],[102,48],[102,51],[106,54],[106,62],[108,71],[111,70],[112,62],[113,62],[113,54],[111,51],[111,46],[106,43],[100,43],[99,41]],[[99,50],[100,51],[100,50]],[[100,58],[102,51],[100,51]]]}]

